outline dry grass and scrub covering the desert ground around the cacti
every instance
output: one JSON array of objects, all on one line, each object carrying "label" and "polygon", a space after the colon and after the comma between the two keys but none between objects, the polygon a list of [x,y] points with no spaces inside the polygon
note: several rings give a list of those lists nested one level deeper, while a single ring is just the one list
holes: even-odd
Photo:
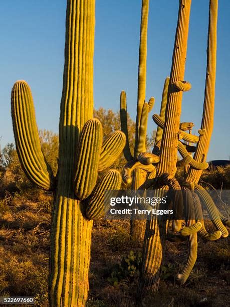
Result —
[{"label": "dry grass and scrub covering the desert ground around the cacti", "polygon": [[[16,194],[0,202],[0,296],[35,296],[37,306],[47,306],[51,197],[45,194],[35,197],[32,201],[32,196]],[[211,223],[206,226],[211,228]],[[184,286],[174,284],[174,275],[187,257],[187,243],[168,242],[159,292],[155,297],[151,294],[146,297],[142,305],[226,306],[227,242],[199,239],[197,262]],[[140,251],[141,246],[130,240],[128,221],[102,218],[95,221],[88,307],[135,306],[137,277],[126,278],[117,286],[108,281],[111,269],[131,250]]]}]

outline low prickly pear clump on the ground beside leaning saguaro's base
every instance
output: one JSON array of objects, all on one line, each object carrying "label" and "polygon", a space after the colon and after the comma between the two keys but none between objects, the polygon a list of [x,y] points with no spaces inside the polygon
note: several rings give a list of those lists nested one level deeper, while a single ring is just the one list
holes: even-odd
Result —
[{"label": "low prickly pear clump on the ground beside leaning saguaro's base", "polygon": [[124,256],[121,262],[111,269],[108,281],[114,286],[118,286],[124,279],[132,282],[135,277],[139,276],[141,261],[141,252],[135,253],[131,250],[128,256]]}]

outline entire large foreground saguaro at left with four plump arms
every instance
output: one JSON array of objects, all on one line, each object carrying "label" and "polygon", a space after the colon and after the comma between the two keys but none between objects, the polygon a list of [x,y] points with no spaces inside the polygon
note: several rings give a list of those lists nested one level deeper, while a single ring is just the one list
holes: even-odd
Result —
[{"label": "entire large foreground saguaro at left with four plump arms", "polygon": [[83,306],[88,293],[92,218],[103,208],[105,189],[119,189],[120,174],[106,171],[123,150],[116,131],[102,143],[102,126],[93,117],[94,0],[68,0],[65,67],[59,123],[56,178],[39,142],[31,90],[25,81],[12,90],[16,147],[30,180],[54,192],[49,295],[52,306]]}]

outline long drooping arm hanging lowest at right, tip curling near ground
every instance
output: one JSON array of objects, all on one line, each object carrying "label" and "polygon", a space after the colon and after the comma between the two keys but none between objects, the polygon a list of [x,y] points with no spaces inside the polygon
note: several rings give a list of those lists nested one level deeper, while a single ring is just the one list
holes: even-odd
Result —
[{"label": "long drooping arm hanging lowest at right, tip curling near ground", "polygon": [[[190,229],[188,235],[188,245],[189,245],[189,256],[187,262],[183,268],[182,273],[177,274],[176,282],[178,284],[184,284],[187,280],[193,266],[196,262],[197,258],[197,231],[201,228],[201,223],[195,222],[195,215],[193,210],[193,199],[192,193],[188,189],[182,189],[183,191],[183,199],[184,199],[184,206],[186,211],[186,227],[187,230]],[[192,229],[193,228],[193,229]],[[182,234],[181,230],[181,235]]]}]

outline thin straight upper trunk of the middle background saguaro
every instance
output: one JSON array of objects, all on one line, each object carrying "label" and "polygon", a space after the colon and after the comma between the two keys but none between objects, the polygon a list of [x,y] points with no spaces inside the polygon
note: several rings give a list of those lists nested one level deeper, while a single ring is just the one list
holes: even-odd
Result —
[{"label": "thin straight upper trunk of the middle background saguaro", "polygon": [[136,138],[135,138],[135,148],[134,148],[134,159],[137,159],[137,156],[138,156],[137,148],[138,148],[138,140],[139,140],[139,130],[141,126],[141,114],[142,114],[143,105],[145,103],[148,9],[149,9],[149,0],[142,0],[140,46],[139,46],[139,66],[138,66]]}]

